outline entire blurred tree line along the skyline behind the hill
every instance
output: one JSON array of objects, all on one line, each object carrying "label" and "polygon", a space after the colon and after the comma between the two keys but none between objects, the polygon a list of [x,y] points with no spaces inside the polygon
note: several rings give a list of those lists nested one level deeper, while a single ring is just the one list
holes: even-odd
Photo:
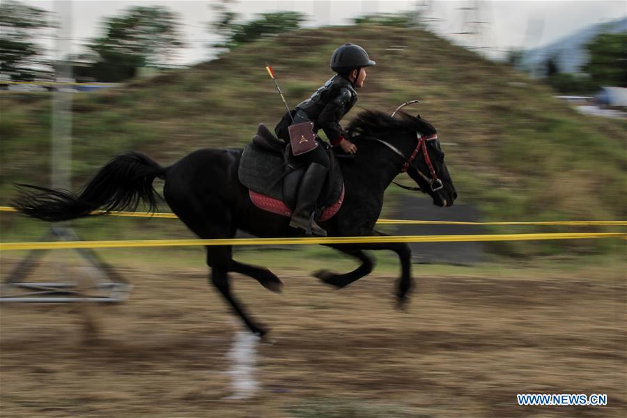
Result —
[{"label": "entire blurred tree line along the skyline behind the hill", "polygon": [[[207,29],[220,36],[210,45],[228,51],[266,36],[294,31],[305,17],[294,12],[262,13],[242,22],[233,10],[233,0],[210,6],[217,19]],[[419,26],[419,15],[377,14],[357,17],[355,24]],[[0,79],[33,81],[51,79],[54,60],[45,56],[38,38],[52,38],[57,24],[52,13],[15,0],[0,3]],[[88,52],[66,57],[78,81],[121,82],[137,76],[139,68],[172,68],[173,58],[185,47],[177,13],[163,6],[134,6],[102,22],[102,35],[86,44]],[[627,87],[627,33],[602,33],[587,49],[589,62],[581,75],[560,72],[557,60],[546,63],[547,82],[564,93],[592,93],[600,86]],[[509,61],[520,62],[524,51],[512,51]]]}]

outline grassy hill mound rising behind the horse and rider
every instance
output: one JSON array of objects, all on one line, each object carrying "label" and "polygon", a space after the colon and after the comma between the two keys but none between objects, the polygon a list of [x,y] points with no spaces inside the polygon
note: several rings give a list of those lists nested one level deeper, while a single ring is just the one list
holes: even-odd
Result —
[{"label": "grassy hill mound rising behind the horse and rider", "polygon": [[[366,47],[378,65],[369,69],[357,106],[343,123],[359,107],[391,111],[406,100],[421,100],[406,109],[437,127],[458,200],[477,205],[483,219],[627,217],[625,121],[578,114],[552,98],[543,84],[432,33],[382,26],[288,33],[123,88],[74,95],[74,184],[125,150],[167,165],[196,148],[243,146],[258,123],[273,127],[284,112],[265,63],[273,65],[286,100],[295,106],[332,75],[329,56],[348,41]],[[0,100],[0,199],[7,204],[10,183],[47,184],[52,95],[2,92]],[[390,192],[391,201],[398,193],[396,188]],[[131,230],[137,226],[124,222]],[[524,231],[557,230],[566,229]],[[126,236],[105,231],[107,238]],[[493,248],[548,254],[603,251],[604,245],[579,241]]]}]

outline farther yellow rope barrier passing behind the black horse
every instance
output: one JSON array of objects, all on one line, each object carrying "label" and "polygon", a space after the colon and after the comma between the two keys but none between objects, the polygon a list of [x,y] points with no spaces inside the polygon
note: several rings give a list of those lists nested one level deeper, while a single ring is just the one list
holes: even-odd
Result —
[{"label": "farther yellow rope barrier passing behind the black horse", "polygon": [[[0,206],[0,212],[17,212],[10,206]],[[148,212],[104,212],[95,210],[91,215],[121,217],[154,217],[178,219],[173,213]],[[627,221],[546,221],[546,222],[456,222],[456,221],[416,221],[410,219],[379,219],[378,224],[418,224],[418,225],[562,225],[562,226],[627,226]]]}]

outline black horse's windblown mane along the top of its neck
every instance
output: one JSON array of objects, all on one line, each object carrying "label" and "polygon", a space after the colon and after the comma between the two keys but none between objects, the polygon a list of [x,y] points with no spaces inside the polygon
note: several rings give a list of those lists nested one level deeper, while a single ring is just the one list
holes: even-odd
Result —
[{"label": "black horse's windblown mane along the top of its neck", "polygon": [[347,128],[350,137],[373,136],[393,132],[421,132],[433,134],[435,128],[420,116],[412,116],[404,111],[396,112],[398,117],[392,118],[382,111],[366,110],[357,115]]}]

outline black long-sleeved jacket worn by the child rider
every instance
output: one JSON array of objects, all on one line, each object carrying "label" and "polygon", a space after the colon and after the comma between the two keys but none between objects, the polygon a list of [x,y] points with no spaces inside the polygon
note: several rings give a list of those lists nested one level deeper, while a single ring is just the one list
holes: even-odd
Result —
[{"label": "black long-sleeved jacket worn by the child rider", "polygon": [[[295,117],[296,123],[307,119],[314,122],[314,132],[322,129],[331,144],[337,145],[344,137],[339,121],[353,108],[355,102],[357,102],[357,92],[353,84],[345,77],[336,74],[324,86],[318,88],[309,99],[298,104],[291,113],[293,116],[298,114],[306,118]],[[288,126],[291,124],[290,116],[287,113],[284,114],[277,127],[274,128],[277,137],[289,141]]]}]

